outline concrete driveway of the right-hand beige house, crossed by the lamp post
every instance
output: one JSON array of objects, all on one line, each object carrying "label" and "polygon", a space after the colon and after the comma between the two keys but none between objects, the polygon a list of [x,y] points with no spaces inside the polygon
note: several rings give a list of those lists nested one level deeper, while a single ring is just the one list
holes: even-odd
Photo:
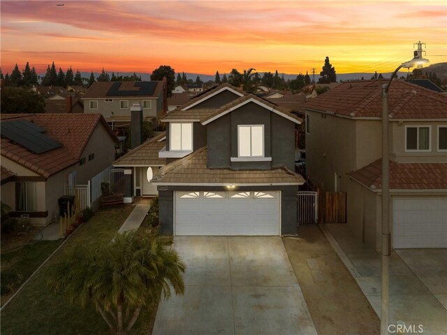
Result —
[{"label": "concrete driveway of the right-hand beige house, crossed by the lamp post", "polygon": [[[355,241],[347,224],[321,224],[320,227],[380,318],[380,252]],[[444,249],[393,251],[390,255],[390,325],[403,321],[407,326],[416,325],[416,329],[422,325],[423,334],[447,334],[447,310],[442,304],[447,293],[446,273]]]}]

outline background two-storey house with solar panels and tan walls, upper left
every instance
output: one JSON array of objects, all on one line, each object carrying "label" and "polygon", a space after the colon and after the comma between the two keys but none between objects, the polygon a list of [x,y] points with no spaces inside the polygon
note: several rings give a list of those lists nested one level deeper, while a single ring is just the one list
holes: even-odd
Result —
[{"label": "background two-storey house with solar panels and tan walls, upper left", "polygon": [[82,97],[85,113],[100,113],[112,129],[131,122],[131,106],[143,108],[143,118],[159,118],[168,109],[166,81],[95,82]]}]

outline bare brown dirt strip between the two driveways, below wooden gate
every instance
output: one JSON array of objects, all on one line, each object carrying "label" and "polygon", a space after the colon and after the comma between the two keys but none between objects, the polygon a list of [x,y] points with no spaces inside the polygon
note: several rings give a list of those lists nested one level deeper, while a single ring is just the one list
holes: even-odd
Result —
[{"label": "bare brown dirt strip between the two driveways, below wooden gate", "polygon": [[284,245],[318,334],[380,334],[380,320],[317,225]]}]

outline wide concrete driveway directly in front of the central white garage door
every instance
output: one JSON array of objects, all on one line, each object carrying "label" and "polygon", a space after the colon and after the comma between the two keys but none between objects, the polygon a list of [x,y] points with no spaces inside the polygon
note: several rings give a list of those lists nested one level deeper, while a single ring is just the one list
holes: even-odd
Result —
[{"label": "wide concrete driveway directly in front of the central white garage door", "polygon": [[277,236],[175,236],[185,294],[160,301],[153,335],[316,334]]}]

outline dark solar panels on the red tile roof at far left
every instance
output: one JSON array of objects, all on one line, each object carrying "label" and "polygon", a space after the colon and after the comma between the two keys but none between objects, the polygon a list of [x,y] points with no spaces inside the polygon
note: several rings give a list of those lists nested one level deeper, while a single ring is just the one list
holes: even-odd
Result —
[{"label": "dark solar panels on the red tile roof at far left", "polygon": [[44,128],[27,120],[1,122],[0,127],[1,136],[36,154],[61,147],[61,143],[42,134]]}]

